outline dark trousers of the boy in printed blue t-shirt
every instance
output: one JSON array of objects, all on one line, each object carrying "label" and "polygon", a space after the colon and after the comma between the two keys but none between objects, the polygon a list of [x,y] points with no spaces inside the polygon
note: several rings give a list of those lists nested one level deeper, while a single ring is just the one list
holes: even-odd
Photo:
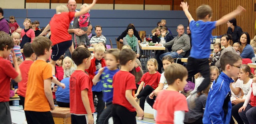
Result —
[{"label": "dark trousers of the boy in printed blue t-shirt", "polygon": [[107,102],[106,108],[100,114],[100,118],[99,118],[100,124],[108,124],[108,119],[112,117],[112,108],[113,108],[112,102]]}]

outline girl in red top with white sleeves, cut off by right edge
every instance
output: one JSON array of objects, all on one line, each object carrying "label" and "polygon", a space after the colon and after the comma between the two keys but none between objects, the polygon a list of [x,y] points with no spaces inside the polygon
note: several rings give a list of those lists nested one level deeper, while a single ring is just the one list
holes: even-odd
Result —
[{"label": "girl in red top with white sleeves, cut off by right edge", "polygon": [[[250,104],[248,104],[250,102]],[[244,105],[238,110],[239,116],[242,118],[245,124],[255,124],[256,119],[256,69],[254,69],[254,78],[252,79],[252,85],[248,92]]]}]

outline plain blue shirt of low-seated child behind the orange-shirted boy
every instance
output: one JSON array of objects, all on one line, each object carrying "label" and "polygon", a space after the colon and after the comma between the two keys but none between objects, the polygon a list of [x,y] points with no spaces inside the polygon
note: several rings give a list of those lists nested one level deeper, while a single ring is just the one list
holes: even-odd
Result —
[{"label": "plain blue shirt of low-seated child behind the orange-shirted boy", "polygon": [[64,78],[62,81],[60,81],[61,83],[65,84],[65,89],[62,89],[62,87],[58,87],[57,91],[55,93],[56,96],[56,101],[58,102],[66,102],[69,103],[70,99],[69,99],[69,79],[70,77]]}]

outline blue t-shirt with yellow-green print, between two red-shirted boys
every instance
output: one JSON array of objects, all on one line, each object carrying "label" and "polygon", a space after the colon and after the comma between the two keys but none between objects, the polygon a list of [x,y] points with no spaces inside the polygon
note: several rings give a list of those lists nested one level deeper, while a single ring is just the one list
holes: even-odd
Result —
[{"label": "blue t-shirt with yellow-green print, between two red-shirted boys", "polygon": [[[113,77],[114,75],[119,71],[119,69],[116,70],[109,70],[107,67],[105,67],[103,73],[100,75],[100,81],[97,83],[102,85],[102,93],[103,93],[103,101],[104,102],[112,102],[113,100]],[[98,71],[96,71],[98,74]]]}]

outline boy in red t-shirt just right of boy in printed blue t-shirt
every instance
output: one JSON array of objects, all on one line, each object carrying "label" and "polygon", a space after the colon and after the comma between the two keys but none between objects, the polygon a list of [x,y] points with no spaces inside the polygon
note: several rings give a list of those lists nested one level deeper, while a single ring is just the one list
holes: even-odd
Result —
[{"label": "boy in red t-shirt just right of boy in printed blue t-shirt", "polygon": [[136,53],[131,49],[123,49],[119,55],[121,69],[113,77],[113,108],[114,124],[136,124],[136,110],[138,116],[144,112],[134,100],[132,91],[136,90],[135,77],[132,71]]}]

